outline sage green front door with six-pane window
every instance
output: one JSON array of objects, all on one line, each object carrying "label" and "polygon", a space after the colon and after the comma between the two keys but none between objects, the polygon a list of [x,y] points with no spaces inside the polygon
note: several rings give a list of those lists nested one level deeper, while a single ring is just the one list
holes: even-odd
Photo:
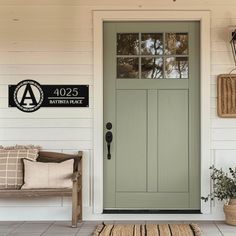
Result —
[{"label": "sage green front door with six-pane window", "polygon": [[104,209],[200,209],[199,27],[104,23]]}]

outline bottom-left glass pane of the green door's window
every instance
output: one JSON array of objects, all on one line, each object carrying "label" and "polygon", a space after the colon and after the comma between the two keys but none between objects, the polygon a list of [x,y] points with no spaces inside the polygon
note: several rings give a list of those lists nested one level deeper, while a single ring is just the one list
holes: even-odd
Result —
[{"label": "bottom-left glass pane of the green door's window", "polygon": [[117,58],[117,78],[138,78],[138,57]]}]

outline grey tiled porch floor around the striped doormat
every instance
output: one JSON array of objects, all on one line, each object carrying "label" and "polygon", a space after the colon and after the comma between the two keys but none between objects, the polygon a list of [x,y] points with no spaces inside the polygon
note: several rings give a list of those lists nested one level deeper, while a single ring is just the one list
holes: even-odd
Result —
[{"label": "grey tiled porch floor around the striped doormat", "polygon": [[[0,236],[91,236],[99,221],[85,221],[71,228],[69,221],[0,222]],[[110,221],[106,223],[190,223],[177,221]],[[192,223],[192,222],[191,222]],[[204,236],[236,236],[236,227],[222,221],[198,221]]]}]

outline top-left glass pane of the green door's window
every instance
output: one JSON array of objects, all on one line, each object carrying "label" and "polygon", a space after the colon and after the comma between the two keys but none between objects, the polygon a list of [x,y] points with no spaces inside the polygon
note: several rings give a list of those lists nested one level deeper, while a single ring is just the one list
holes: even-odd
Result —
[{"label": "top-left glass pane of the green door's window", "polygon": [[139,54],[139,34],[120,33],[117,34],[117,55]]}]

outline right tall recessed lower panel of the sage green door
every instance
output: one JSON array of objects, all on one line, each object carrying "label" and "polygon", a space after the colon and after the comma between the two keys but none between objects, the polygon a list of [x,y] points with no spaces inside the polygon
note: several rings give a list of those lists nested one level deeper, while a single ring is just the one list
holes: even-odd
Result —
[{"label": "right tall recessed lower panel of the sage green door", "polygon": [[158,191],[188,191],[188,91],[158,91]]}]

